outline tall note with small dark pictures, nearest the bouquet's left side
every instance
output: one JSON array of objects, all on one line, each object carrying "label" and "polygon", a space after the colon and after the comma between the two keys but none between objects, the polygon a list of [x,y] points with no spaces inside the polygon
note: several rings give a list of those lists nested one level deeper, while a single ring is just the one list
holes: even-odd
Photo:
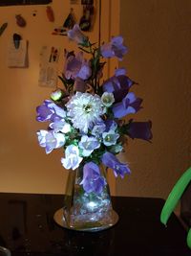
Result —
[{"label": "tall note with small dark pictures, nearest the bouquet's left side", "polygon": [[38,85],[44,87],[56,87],[57,61],[60,50],[54,46],[43,46],[40,53]]}]

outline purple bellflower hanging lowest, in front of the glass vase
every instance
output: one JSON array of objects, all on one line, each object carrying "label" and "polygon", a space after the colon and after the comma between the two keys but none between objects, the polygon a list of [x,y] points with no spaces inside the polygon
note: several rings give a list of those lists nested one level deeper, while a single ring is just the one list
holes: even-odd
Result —
[{"label": "purple bellflower hanging lowest, in front of the glass vase", "polygon": [[107,183],[100,175],[99,167],[94,162],[89,162],[83,167],[83,179],[80,184],[87,193],[100,194]]}]

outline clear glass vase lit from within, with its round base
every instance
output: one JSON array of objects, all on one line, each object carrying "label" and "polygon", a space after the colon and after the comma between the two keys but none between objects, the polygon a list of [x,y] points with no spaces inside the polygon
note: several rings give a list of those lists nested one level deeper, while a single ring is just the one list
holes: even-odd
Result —
[{"label": "clear glass vase lit from within, with its round base", "polygon": [[[100,173],[106,177],[103,168]],[[80,184],[82,178],[82,168],[69,171],[64,207],[55,213],[54,220],[66,228],[82,231],[113,226],[118,216],[112,207],[108,183],[100,194],[86,193]]]}]

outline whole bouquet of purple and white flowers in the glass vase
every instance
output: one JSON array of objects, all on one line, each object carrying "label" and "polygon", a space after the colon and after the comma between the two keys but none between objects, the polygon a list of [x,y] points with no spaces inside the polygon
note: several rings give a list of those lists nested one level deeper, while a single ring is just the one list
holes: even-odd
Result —
[{"label": "whole bouquet of purple and white flowers in the glass vase", "polygon": [[51,99],[37,106],[36,120],[50,122],[47,130],[37,131],[37,136],[46,153],[62,148],[63,167],[83,168],[84,190],[99,194],[106,185],[99,165],[112,169],[116,176],[130,174],[129,166],[116,155],[123,151],[127,136],[150,141],[152,123],[122,120],[137,113],[142,103],[131,91],[136,82],[126,75],[125,69],[116,69],[113,77],[101,81],[104,59],[121,60],[127,53],[123,38],[116,36],[109,43],[96,46],[78,25],[68,31],[68,37],[78,44],[79,52],[65,52],[65,66],[59,76],[64,88],[57,88]]}]

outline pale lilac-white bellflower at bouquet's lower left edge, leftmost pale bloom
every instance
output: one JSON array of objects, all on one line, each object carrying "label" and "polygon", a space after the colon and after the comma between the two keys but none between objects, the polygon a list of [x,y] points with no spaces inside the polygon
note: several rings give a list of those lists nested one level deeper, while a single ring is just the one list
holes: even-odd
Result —
[{"label": "pale lilac-white bellflower at bouquet's lower left edge, leftmost pale bloom", "polygon": [[54,149],[61,148],[65,144],[65,136],[62,133],[56,133],[53,130],[40,129],[37,131],[40,147],[45,148],[46,153]]}]

